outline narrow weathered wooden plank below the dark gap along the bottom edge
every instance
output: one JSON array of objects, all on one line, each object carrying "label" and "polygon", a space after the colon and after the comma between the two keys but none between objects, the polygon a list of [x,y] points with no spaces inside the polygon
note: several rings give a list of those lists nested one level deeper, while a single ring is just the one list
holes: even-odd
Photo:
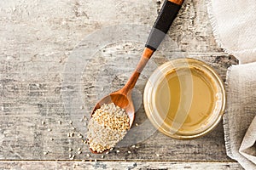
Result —
[{"label": "narrow weathered wooden plank below the dark gap along the bottom edge", "polygon": [[4,169],[241,169],[236,162],[203,161],[0,161]]}]

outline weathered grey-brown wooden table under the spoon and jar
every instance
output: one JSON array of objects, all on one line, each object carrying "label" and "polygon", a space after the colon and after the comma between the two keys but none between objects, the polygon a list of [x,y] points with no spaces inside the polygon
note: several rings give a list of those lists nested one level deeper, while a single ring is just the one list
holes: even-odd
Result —
[{"label": "weathered grey-brown wooden table under the spoon and jar", "polygon": [[[222,123],[200,139],[177,140],[157,132],[143,110],[145,83],[166,60],[201,59],[223,79],[238,63],[214,41],[204,0],[185,1],[169,31],[171,43],[162,44],[137,82],[130,133],[136,138],[104,156],[83,143],[83,117],[131,75],[162,2],[0,2],[0,169],[241,169],[226,156]],[[99,37],[107,39],[90,47]],[[86,49],[96,53],[86,58]]]}]

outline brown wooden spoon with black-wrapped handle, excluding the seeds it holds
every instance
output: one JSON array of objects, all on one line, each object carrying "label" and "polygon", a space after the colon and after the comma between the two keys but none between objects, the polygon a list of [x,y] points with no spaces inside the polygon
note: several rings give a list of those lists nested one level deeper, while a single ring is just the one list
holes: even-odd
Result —
[{"label": "brown wooden spoon with black-wrapped handle, excluding the seeds it holds", "polygon": [[[101,105],[113,103],[114,105],[118,105],[120,108],[125,109],[125,112],[129,116],[131,127],[135,117],[134,106],[131,99],[131,89],[134,88],[138,77],[143,71],[143,68],[148,63],[148,59],[150,59],[152,54],[154,54],[154,51],[159,47],[160,42],[162,42],[166,36],[166,33],[172,25],[173,20],[176,18],[182,3],[183,0],[165,1],[161,8],[160,14],[157,17],[157,20],[155,20],[154,26],[148,36],[148,41],[146,42],[142,58],[140,59],[137,68],[131,75],[130,79],[128,82],[126,82],[123,88],[101,99],[91,112],[91,116],[97,109],[101,107]],[[91,152],[97,153],[94,150],[91,150]]]}]

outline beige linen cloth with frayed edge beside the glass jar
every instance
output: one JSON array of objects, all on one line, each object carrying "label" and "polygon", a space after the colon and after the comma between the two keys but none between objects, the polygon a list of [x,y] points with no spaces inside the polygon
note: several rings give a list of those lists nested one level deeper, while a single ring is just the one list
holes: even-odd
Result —
[{"label": "beige linen cloth with frayed edge beside the glass jar", "polygon": [[256,1],[207,0],[207,9],[219,46],[240,62],[227,72],[227,155],[256,170]]}]

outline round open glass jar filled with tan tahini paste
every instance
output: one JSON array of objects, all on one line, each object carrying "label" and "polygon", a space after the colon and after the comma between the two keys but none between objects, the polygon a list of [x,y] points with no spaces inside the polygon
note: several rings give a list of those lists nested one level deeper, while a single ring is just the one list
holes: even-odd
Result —
[{"label": "round open glass jar filled with tan tahini paste", "polygon": [[161,133],[194,139],[220,122],[225,107],[224,82],[197,59],[174,59],[149,77],[143,94],[148,119]]}]

